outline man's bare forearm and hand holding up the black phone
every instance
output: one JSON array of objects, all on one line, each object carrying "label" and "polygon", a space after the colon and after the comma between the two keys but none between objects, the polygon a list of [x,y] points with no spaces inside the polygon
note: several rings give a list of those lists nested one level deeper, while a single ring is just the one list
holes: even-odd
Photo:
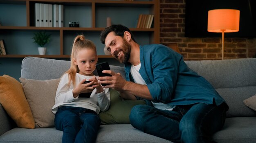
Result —
[{"label": "man's bare forearm and hand holding up the black phone", "polygon": [[99,83],[108,83],[104,88],[113,88],[121,93],[121,97],[128,100],[137,100],[135,97],[153,100],[148,87],[134,82],[126,81],[119,73],[104,70],[103,73],[111,74],[112,76],[99,77]]}]

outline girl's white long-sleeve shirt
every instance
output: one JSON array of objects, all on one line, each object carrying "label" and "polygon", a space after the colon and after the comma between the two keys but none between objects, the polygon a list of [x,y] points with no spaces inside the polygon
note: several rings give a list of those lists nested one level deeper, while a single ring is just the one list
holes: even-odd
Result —
[{"label": "girl's white long-sleeve shirt", "polygon": [[[94,76],[84,76],[76,73],[76,85],[83,79],[90,79]],[[98,76],[95,76],[98,78]],[[52,112],[55,114],[60,106],[73,106],[90,109],[99,114],[100,111],[108,110],[110,105],[109,88],[103,88],[104,91],[96,93],[96,88],[92,91],[90,98],[79,98],[79,95],[74,98],[73,84],[68,85],[68,74],[64,74],[58,84],[55,96],[55,105],[52,107]]]}]

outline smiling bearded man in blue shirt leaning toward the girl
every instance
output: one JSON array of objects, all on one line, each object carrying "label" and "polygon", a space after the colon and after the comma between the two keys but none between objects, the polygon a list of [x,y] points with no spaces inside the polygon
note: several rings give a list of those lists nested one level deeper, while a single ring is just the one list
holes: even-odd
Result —
[{"label": "smiling bearded man in blue shirt leaning toward the girl", "polygon": [[99,77],[122,98],[144,99],[132,108],[130,122],[145,133],[173,142],[210,143],[225,122],[228,106],[210,83],[187,67],[183,56],[161,44],[139,45],[125,26],[101,32],[112,56],[125,64],[126,80],[119,73]]}]

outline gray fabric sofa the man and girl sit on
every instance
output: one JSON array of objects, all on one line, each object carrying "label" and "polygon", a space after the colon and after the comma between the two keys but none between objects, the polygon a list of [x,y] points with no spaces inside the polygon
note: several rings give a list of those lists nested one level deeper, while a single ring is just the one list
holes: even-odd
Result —
[{"label": "gray fabric sofa the man and girl sit on", "polygon": [[[243,103],[243,100],[256,94],[256,58],[186,63],[206,78],[229,105],[225,125],[213,135],[214,141],[256,143],[256,112]],[[26,57],[22,61],[21,77],[36,80],[60,78],[69,67],[69,61]],[[123,76],[125,74],[123,67],[110,68]],[[61,143],[62,134],[55,128],[18,128],[0,104],[0,143]],[[101,125],[96,142],[170,143],[145,134],[130,124]]]}]

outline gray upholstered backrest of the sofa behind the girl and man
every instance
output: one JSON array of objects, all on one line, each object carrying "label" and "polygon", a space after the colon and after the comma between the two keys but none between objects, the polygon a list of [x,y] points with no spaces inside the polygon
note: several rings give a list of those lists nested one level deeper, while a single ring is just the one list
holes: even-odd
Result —
[{"label": "gray upholstered backrest of the sofa behind the girl and man", "polygon": [[[256,58],[185,62],[225,99],[229,105],[227,117],[256,116],[255,111],[243,104],[243,100],[256,94]],[[70,61],[26,57],[22,61],[21,77],[35,80],[60,78],[69,67]],[[124,67],[110,65],[110,69],[125,77]]]}]

